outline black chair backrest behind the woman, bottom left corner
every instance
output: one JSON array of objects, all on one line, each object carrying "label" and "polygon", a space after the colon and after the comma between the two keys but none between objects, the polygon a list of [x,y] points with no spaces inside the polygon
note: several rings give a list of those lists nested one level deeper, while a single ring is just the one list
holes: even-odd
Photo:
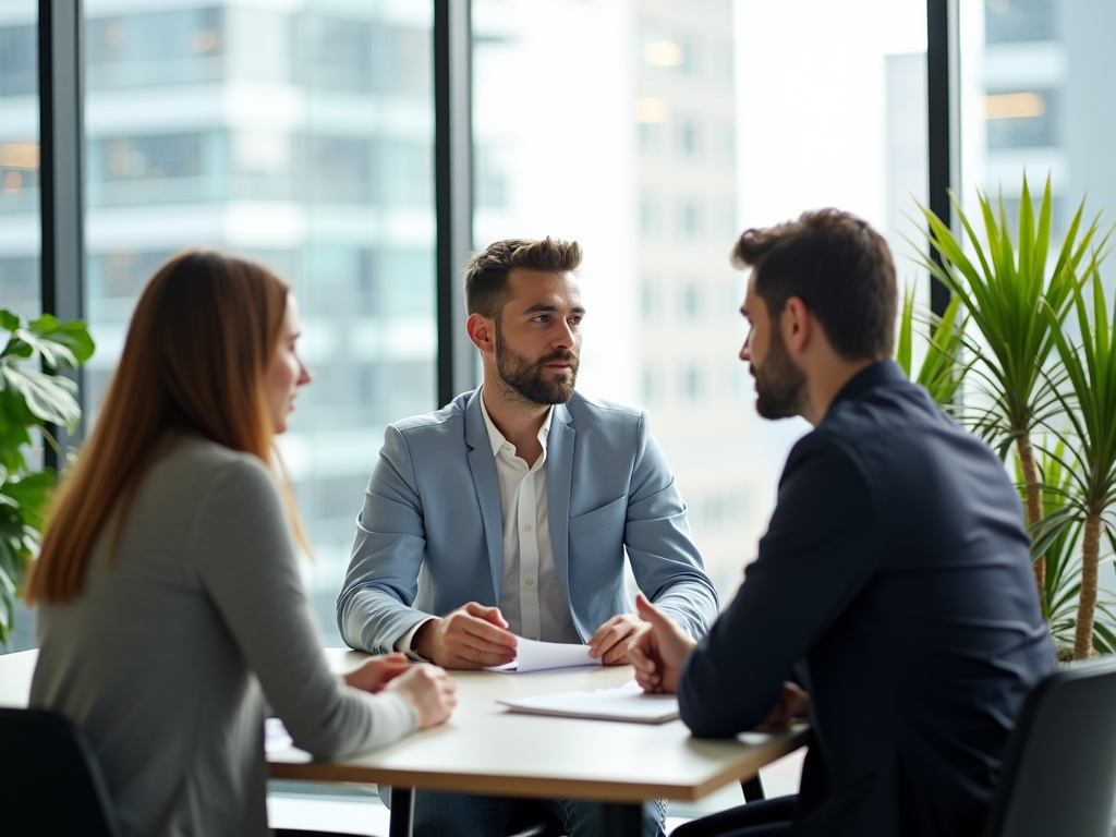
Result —
[{"label": "black chair backrest behind the woman, bottom left corner", "polygon": [[0,831],[119,837],[97,756],[68,719],[0,709]]}]

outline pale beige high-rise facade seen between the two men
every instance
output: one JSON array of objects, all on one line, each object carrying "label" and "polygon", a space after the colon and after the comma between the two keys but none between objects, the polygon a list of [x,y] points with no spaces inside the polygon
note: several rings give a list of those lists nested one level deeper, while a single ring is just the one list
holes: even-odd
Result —
[{"label": "pale beige high-rise facade seen between the two men", "polygon": [[636,15],[639,400],[727,597],[751,557],[748,519],[766,512],[737,357],[744,276],[729,258],[740,234],[732,6],[638,0]]}]

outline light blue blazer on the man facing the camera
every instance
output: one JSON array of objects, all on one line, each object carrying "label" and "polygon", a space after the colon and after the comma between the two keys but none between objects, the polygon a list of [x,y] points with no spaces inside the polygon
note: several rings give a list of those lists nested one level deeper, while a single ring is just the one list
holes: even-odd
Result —
[{"label": "light blue blazer on the man facing the camera", "polygon": [[[686,507],[641,410],[575,394],[555,407],[547,498],[558,584],[581,639],[639,589],[694,638],[718,599],[690,538]],[[387,427],[357,517],[337,626],[372,653],[427,616],[468,602],[498,605],[503,520],[480,391]]]}]

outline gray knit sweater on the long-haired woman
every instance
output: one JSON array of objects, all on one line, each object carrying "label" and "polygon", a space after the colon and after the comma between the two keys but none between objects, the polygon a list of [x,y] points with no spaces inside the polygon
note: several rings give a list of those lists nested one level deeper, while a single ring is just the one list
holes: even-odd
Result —
[{"label": "gray knit sweater on the long-haired woman", "polygon": [[144,479],[109,567],[112,528],[81,595],[39,607],[31,705],[88,734],[124,837],[269,834],[264,700],[320,758],[414,729],[401,696],[349,689],[326,667],[257,459],[181,440]]}]

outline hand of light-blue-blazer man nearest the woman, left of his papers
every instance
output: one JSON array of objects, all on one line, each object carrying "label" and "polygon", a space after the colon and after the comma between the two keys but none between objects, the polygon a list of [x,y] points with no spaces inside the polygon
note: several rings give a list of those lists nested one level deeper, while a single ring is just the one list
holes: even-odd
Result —
[{"label": "hand of light-blue-blazer man nearest the woman, left of his papers", "polygon": [[500,608],[470,602],[441,619],[431,619],[415,632],[411,646],[443,668],[483,668],[516,658],[516,635]]}]

